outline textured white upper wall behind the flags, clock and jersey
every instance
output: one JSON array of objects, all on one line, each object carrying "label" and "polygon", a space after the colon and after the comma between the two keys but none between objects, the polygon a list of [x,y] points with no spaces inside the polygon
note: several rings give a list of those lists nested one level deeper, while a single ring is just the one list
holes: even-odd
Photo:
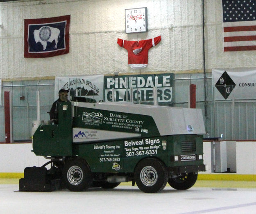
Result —
[{"label": "textured white upper wall behind the flags, clock and jersey", "polygon": [[[205,2],[206,69],[255,67],[255,51],[223,52],[221,0]],[[148,32],[125,33],[125,9],[147,7]],[[70,53],[24,58],[24,19],[71,15]],[[24,0],[0,2],[0,78],[138,72],[202,72],[202,0]],[[141,71],[127,66],[125,40],[162,41]]]}]

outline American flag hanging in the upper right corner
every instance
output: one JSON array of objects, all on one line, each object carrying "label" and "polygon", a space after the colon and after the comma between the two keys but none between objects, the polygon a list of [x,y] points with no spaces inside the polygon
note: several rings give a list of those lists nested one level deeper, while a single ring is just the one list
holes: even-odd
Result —
[{"label": "American flag hanging in the upper right corner", "polygon": [[224,51],[256,50],[256,0],[222,0]]}]

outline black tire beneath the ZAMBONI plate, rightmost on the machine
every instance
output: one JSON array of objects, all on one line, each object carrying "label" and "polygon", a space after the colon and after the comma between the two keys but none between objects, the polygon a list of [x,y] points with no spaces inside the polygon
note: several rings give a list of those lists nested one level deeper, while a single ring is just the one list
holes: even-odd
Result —
[{"label": "black tire beneath the ZAMBONI plate, rightmost on the machine", "polygon": [[197,181],[197,172],[184,173],[176,178],[170,178],[168,183],[174,189],[184,190],[193,187]]}]

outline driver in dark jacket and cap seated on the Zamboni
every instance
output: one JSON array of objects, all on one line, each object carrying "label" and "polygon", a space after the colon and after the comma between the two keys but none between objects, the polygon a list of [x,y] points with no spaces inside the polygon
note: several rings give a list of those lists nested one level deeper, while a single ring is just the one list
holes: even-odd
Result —
[{"label": "driver in dark jacket and cap seated on the Zamboni", "polygon": [[59,99],[52,104],[52,108],[50,110],[50,120],[52,120],[54,124],[58,124],[58,105],[61,102],[69,102],[68,90],[60,89]]}]

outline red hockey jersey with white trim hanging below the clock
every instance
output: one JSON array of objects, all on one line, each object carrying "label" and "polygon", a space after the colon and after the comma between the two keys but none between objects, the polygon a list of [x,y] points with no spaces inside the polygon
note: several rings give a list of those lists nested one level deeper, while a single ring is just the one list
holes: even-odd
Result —
[{"label": "red hockey jersey with white trim hanging below the clock", "polygon": [[145,68],[148,62],[148,50],[157,45],[161,41],[161,36],[157,36],[148,40],[127,41],[117,39],[118,45],[127,49],[128,65],[131,68]]}]

